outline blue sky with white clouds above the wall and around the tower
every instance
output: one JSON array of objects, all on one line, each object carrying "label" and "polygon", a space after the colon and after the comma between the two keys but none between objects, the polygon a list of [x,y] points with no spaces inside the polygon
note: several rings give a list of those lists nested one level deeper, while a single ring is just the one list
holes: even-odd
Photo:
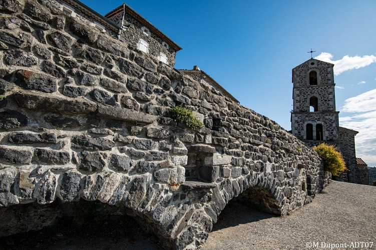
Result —
[{"label": "blue sky with white clouds above the wall and around the tower", "polygon": [[[105,15],[123,0],[82,0]],[[183,49],[175,68],[198,65],[249,107],[291,129],[291,69],[335,63],[340,126],[359,131],[356,156],[376,165],[375,0],[127,0]]]}]

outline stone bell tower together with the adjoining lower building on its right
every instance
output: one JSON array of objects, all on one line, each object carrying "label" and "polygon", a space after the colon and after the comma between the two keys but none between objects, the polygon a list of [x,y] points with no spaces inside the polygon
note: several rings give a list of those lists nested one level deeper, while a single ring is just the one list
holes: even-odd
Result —
[{"label": "stone bell tower together with the adjoining lower building on its right", "polygon": [[344,180],[367,184],[366,171],[356,164],[355,130],[339,126],[335,108],[334,64],[310,58],[292,69],[291,131],[309,146],[335,145],[349,170]]}]

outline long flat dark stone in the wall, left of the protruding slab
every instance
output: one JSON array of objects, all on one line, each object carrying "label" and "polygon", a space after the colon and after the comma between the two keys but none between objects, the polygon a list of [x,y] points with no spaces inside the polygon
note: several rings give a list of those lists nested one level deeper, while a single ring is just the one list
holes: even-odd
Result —
[{"label": "long flat dark stone in the wall, left of the protruding slab", "polygon": [[40,109],[50,112],[67,113],[89,113],[97,110],[93,101],[80,99],[65,99],[61,97],[50,97],[34,93],[17,93],[14,95],[20,107]]}]

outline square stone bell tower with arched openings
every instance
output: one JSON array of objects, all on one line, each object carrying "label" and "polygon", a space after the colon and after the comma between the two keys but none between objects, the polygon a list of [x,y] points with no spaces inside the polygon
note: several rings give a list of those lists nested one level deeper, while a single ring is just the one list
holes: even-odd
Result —
[{"label": "square stone bell tower with arched openings", "polygon": [[339,142],[333,66],[310,58],[292,69],[291,131],[310,146]]}]

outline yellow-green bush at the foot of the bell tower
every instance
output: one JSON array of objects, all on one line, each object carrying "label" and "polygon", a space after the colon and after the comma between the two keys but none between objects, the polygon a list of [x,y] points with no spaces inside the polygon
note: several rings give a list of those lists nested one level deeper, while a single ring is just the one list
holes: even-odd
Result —
[{"label": "yellow-green bush at the foot of the bell tower", "polygon": [[321,143],[314,146],[313,150],[323,159],[324,170],[331,172],[333,176],[340,176],[346,169],[342,154],[333,145]]}]

